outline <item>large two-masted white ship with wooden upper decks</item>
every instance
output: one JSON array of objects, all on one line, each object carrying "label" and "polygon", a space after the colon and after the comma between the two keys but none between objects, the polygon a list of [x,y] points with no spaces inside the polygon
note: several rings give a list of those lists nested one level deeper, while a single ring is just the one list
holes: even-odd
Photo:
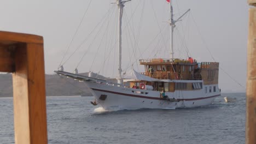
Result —
[{"label": "large two-masted white ship with wooden upper decks", "polygon": [[121,19],[124,4],[128,1],[117,0],[119,8],[119,55],[117,82],[97,79],[93,76],[69,73],[63,67],[55,73],[84,82],[95,97],[91,104],[100,105],[104,110],[136,109],[180,109],[210,105],[220,95],[218,86],[218,62],[197,62],[196,59],[174,58],[173,29],[177,20],[173,20],[172,1],[170,4],[170,58],[139,59],[144,72],[136,70],[122,74],[121,69]]}]

